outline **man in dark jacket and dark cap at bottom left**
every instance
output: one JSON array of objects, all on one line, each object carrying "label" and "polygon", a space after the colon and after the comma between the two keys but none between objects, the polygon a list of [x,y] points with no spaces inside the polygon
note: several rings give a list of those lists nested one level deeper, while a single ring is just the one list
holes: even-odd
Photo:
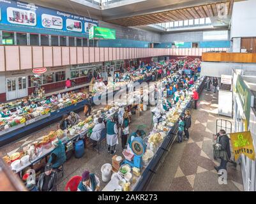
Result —
[{"label": "man in dark jacket and dark cap at bottom left", "polygon": [[52,170],[52,164],[45,166],[45,172],[41,173],[37,183],[38,191],[57,191],[57,173]]}]

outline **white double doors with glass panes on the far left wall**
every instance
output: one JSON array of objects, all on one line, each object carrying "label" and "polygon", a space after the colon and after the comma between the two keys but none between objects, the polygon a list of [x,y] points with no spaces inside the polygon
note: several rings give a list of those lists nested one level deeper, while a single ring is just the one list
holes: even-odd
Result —
[{"label": "white double doors with glass panes on the far left wall", "polygon": [[27,77],[6,78],[7,101],[27,96]]}]

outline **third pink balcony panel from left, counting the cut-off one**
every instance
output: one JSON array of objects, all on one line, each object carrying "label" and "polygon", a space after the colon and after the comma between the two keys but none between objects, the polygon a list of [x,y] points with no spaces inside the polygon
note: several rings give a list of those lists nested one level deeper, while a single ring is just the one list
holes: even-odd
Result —
[{"label": "third pink balcony panel from left, counting the cut-off one", "polygon": [[20,69],[32,69],[32,47],[20,46]]}]

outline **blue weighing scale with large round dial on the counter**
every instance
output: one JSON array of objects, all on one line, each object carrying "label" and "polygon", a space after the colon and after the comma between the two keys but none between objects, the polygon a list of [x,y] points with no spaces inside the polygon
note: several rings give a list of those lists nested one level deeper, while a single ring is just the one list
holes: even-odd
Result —
[{"label": "blue weighing scale with large round dial on the counter", "polygon": [[146,152],[146,149],[147,149],[147,145],[142,140],[142,138],[140,137],[134,138],[132,141],[132,152],[134,154],[133,160],[128,161],[127,159],[125,159],[124,164],[129,164],[132,167],[141,169],[143,166],[142,156]]}]

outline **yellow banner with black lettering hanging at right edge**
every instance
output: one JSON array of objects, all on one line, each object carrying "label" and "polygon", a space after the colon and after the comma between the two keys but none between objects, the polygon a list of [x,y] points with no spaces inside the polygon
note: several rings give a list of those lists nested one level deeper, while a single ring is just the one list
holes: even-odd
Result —
[{"label": "yellow banner with black lettering hanging at right edge", "polygon": [[230,133],[230,140],[232,143],[235,160],[239,158],[240,154],[245,154],[246,157],[255,160],[255,150],[250,131]]}]

